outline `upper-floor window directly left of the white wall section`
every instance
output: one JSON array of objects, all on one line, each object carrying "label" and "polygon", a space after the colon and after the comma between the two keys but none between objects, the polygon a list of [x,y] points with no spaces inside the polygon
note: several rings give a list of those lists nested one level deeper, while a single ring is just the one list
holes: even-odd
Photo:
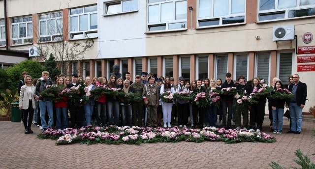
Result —
[{"label": "upper-floor window directly left of the white wall section", "polygon": [[70,9],[71,39],[97,37],[97,6]]}]

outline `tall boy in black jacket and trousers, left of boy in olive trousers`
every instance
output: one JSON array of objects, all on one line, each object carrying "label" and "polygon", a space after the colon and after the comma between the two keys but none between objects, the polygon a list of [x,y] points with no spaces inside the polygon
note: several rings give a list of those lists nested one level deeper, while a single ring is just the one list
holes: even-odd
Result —
[{"label": "tall boy in black jacket and trousers, left of boy in olive trousers", "polygon": [[[231,73],[225,74],[225,82],[221,85],[222,88],[227,87],[235,87],[234,82],[231,80]],[[233,95],[223,95],[221,97],[222,100],[222,126],[227,129],[231,128],[231,120],[232,120],[232,108],[233,108]],[[228,109],[228,110],[227,110]],[[227,113],[227,121],[226,121],[226,113]]]}]

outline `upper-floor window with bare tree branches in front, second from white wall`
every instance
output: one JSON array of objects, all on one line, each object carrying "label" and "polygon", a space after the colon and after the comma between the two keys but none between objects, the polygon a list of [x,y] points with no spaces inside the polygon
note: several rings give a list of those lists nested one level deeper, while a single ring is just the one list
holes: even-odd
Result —
[{"label": "upper-floor window with bare tree branches in front, second from white wall", "polygon": [[39,15],[40,42],[63,40],[63,12]]}]

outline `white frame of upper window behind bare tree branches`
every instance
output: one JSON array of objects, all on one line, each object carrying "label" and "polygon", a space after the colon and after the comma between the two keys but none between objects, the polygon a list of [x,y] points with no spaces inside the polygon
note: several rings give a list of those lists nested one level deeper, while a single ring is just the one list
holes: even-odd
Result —
[{"label": "white frame of upper window behind bare tree branches", "polygon": [[[49,18],[40,19],[42,15],[47,15]],[[57,15],[57,16],[53,16]],[[59,16],[58,16],[59,15]],[[51,42],[51,41],[62,41],[63,40],[63,11],[51,12],[51,13],[44,13],[39,15],[39,41],[40,42]],[[48,30],[48,21],[55,20],[55,32],[49,34]],[[61,20],[61,28],[58,28],[57,20]],[[41,22],[46,22],[46,33],[41,35]]]}]

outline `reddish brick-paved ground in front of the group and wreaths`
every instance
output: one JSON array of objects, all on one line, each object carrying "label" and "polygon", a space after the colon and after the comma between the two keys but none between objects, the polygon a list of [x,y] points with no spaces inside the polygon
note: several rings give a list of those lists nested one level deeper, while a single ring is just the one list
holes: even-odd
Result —
[{"label": "reddish brick-paved ground in front of the group and wreaths", "polygon": [[[268,130],[269,120],[263,129]],[[271,169],[268,164],[299,167],[293,162],[296,149],[315,163],[314,120],[304,120],[300,135],[286,134],[289,122],[274,143],[178,142],[141,145],[55,145],[37,139],[40,130],[25,135],[19,122],[0,121],[0,169]]]}]

